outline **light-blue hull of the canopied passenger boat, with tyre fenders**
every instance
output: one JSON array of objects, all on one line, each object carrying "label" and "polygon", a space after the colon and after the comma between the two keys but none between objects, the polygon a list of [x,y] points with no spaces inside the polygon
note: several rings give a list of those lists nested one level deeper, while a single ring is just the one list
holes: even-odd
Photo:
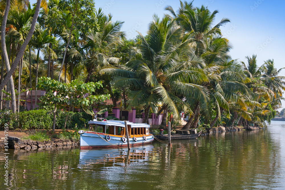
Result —
[{"label": "light-blue hull of the canopied passenger boat, with tyre fenders", "polygon": [[[92,148],[114,148],[116,146],[124,147],[128,146],[127,141],[123,142],[122,137],[119,136],[110,136],[110,140],[106,140],[106,136],[108,134],[94,134],[85,132],[80,135],[80,148],[81,149],[92,149]],[[130,145],[137,146],[137,145],[144,145],[151,143],[154,140],[153,136],[146,136],[146,140],[143,137],[137,137],[137,142],[134,141],[133,138],[130,138]]]}]

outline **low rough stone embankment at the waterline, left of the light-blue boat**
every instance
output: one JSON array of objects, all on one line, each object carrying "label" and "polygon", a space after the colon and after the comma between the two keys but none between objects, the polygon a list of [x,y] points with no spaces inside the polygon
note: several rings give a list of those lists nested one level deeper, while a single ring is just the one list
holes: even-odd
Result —
[{"label": "low rough stone embankment at the waterline, left of the light-blue boat", "polygon": [[[4,138],[0,140],[0,151],[4,150],[5,142]],[[44,141],[34,140],[21,140],[20,138],[8,136],[8,147],[9,149],[25,149],[25,150],[36,150],[43,148],[74,148],[80,146],[79,140],[66,140],[66,139],[51,139]]]}]

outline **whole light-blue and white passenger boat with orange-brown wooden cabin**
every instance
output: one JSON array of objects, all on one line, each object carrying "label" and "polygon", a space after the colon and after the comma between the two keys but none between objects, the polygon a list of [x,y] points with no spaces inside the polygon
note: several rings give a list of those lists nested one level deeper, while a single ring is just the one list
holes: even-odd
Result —
[{"label": "whole light-blue and white passenger boat with orange-brown wooden cabin", "polygon": [[[128,146],[124,121],[97,121],[94,119],[88,121],[88,124],[102,126],[103,132],[78,131],[81,149]],[[127,121],[127,126],[131,146],[148,144],[154,140],[149,132],[150,125]]]}]

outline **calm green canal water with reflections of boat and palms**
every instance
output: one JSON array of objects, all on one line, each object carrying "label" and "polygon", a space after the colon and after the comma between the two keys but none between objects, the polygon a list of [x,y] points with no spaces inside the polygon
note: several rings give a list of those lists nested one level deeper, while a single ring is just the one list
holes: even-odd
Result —
[{"label": "calm green canal water with reflections of boat and palms", "polygon": [[[14,151],[9,189],[285,189],[285,122],[123,149]],[[0,172],[4,173],[0,154]],[[1,189],[5,189],[4,178]]]}]

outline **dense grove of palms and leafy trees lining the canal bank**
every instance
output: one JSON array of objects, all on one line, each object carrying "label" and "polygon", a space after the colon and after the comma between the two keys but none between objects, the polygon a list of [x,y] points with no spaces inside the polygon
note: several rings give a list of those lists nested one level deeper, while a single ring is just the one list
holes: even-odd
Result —
[{"label": "dense grove of palms and leafy trees lining the canal bank", "polygon": [[[57,109],[67,110],[56,109],[62,99],[43,105],[49,98],[39,98],[39,91],[75,80],[99,85],[92,94],[109,96],[111,107],[122,100],[122,110],[142,110],[143,122],[150,113],[163,114],[164,126],[170,115],[179,122],[182,112],[189,116],[184,128],[265,126],[282,106],[284,68],[278,70],[272,58],[259,67],[254,54],[245,55],[246,62],[232,60],[233,46],[220,30],[230,20],[215,21],[219,12],[203,5],[167,6],[168,14],[153,15],[147,34],[138,31],[134,39],[121,31],[123,21],[95,9],[93,0],[0,0],[0,9],[2,113],[27,110],[32,93],[20,100],[19,91],[35,90],[31,109],[53,111],[55,118]],[[107,108],[104,98],[89,110]]]}]

